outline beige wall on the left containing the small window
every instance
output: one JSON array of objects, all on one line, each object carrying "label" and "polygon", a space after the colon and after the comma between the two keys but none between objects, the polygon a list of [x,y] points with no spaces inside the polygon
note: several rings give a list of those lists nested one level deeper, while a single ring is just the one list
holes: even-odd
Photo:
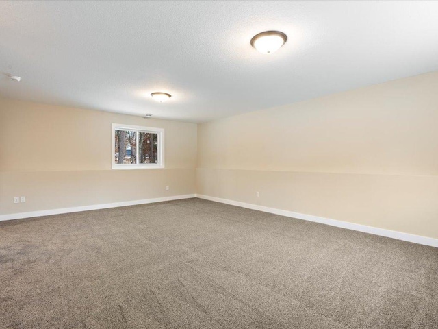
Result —
[{"label": "beige wall on the left containing the small window", "polygon": [[[112,123],[164,128],[166,168],[112,170]],[[0,215],[195,193],[196,130],[193,123],[0,99]],[[26,203],[14,204],[21,195]]]}]

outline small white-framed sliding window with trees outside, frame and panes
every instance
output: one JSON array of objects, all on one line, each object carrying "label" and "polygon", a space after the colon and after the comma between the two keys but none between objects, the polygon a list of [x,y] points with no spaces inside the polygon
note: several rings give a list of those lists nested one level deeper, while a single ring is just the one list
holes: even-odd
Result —
[{"label": "small white-framed sliding window with trees outside, frame and panes", "polygon": [[112,124],[112,169],[164,168],[164,129]]}]

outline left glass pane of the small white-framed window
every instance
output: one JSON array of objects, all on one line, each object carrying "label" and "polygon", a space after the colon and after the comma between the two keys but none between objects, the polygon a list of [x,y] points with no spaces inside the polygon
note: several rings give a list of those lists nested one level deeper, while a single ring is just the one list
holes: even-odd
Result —
[{"label": "left glass pane of the small white-framed window", "polygon": [[114,163],[136,164],[137,132],[131,130],[116,130]]}]

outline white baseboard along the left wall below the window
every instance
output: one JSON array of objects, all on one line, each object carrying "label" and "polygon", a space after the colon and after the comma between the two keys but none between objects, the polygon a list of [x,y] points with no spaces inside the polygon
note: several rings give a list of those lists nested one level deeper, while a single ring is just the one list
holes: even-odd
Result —
[{"label": "white baseboard along the left wall below the window", "polygon": [[142,200],[134,200],[134,201],[113,202],[111,204],[92,204],[90,206],[79,206],[79,207],[59,208],[59,209],[51,209],[51,210],[18,212],[15,214],[0,215],[0,221],[9,221],[10,219],[21,219],[21,218],[66,214],[67,212],[79,212],[79,211],[97,210],[97,209],[105,209],[105,208],[136,206],[137,204],[152,204],[154,202],[190,199],[192,197],[196,197],[196,195],[194,195],[194,194],[175,195],[172,197],[156,197],[154,199],[142,199]]}]

